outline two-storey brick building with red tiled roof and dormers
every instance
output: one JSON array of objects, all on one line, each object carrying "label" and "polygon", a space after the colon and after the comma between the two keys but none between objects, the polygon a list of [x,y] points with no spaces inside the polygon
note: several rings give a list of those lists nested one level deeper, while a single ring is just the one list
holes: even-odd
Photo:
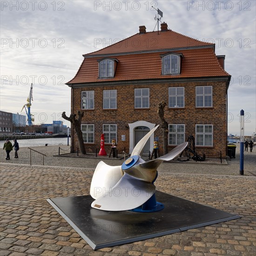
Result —
[{"label": "two-storey brick building with red tiled roof and dormers", "polygon": [[[225,56],[216,56],[215,44],[176,33],[163,23],[159,32],[140,26],[139,33],[83,57],[67,85],[71,113],[84,112],[81,129],[87,151],[100,148],[104,133],[107,152],[116,138],[118,151],[131,153],[160,124],[157,104],[165,101],[169,150],[194,135],[199,155],[225,155],[231,76],[224,70]],[[161,128],[144,152],[152,150],[156,137],[162,153]],[[72,145],[78,145],[74,128]]]}]

